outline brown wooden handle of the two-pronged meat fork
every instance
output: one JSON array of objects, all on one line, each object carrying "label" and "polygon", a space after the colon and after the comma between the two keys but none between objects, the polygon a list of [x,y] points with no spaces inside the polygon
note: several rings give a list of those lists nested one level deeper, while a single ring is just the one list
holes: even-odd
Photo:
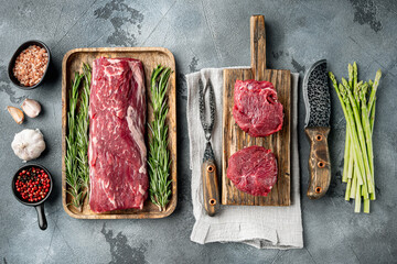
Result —
[{"label": "brown wooden handle of the two-pronged meat fork", "polygon": [[202,177],[204,209],[210,217],[213,217],[219,210],[221,202],[216,165],[213,160],[208,160],[203,163]]}]

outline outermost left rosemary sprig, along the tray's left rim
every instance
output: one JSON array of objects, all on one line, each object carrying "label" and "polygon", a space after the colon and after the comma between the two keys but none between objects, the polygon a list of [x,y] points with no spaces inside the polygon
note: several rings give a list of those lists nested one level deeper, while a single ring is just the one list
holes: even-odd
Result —
[{"label": "outermost left rosemary sprig, along the tray's left rim", "polygon": [[76,109],[78,101],[78,87],[83,79],[83,75],[75,73],[69,91],[69,109],[67,112],[67,136],[66,136],[66,156],[65,156],[65,174],[67,193],[72,196],[71,204],[82,209],[82,182],[77,172],[77,130],[76,130]]}]

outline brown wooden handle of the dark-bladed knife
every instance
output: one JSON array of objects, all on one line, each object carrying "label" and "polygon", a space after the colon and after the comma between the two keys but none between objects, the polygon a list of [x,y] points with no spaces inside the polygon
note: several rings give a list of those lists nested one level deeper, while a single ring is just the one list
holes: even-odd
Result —
[{"label": "brown wooden handle of the dark-bladed knife", "polygon": [[325,195],[331,182],[330,128],[307,128],[304,132],[310,141],[308,197],[319,199]]}]

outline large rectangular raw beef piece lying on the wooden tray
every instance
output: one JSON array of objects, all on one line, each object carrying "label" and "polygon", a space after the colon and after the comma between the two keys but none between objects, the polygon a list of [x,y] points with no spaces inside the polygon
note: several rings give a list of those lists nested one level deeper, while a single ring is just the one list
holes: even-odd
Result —
[{"label": "large rectangular raw beef piece lying on the wooden tray", "polygon": [[148,197],[146,88],[142,63],[97,58],[89,96],[89,207],[139,208]]}]

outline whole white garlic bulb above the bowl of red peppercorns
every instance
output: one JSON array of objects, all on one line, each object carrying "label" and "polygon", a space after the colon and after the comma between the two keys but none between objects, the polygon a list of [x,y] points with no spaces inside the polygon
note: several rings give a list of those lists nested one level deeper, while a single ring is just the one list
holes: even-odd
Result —
[{"label": "whole white garlic bulb above the bowl of red peppercorns", "polygon": [[39,129],[25,129],[15,134],[11,147],[19,158],[31,161],[42,154],[45,150],[45,142]]}]

